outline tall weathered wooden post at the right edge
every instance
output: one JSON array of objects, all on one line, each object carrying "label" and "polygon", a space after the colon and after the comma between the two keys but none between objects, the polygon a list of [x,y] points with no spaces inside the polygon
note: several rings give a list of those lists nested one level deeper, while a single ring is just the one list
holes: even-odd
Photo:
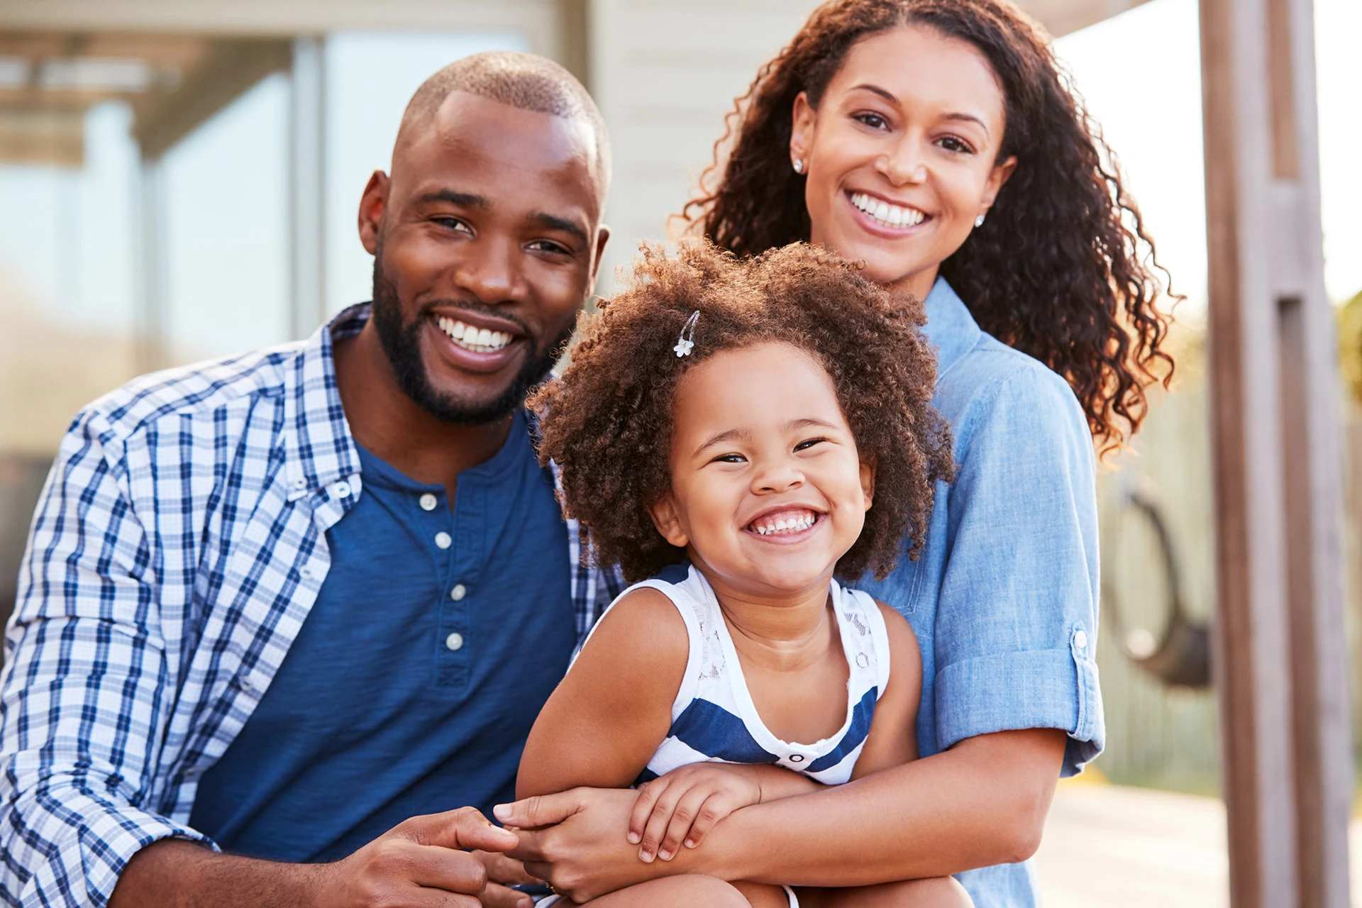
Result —
[{"label": "tall weathered wooden post at the right edge", "polygon": [[1201,0],[1216,686],[1235,908],[1346,908],[1337,348],[1310,0]]}]

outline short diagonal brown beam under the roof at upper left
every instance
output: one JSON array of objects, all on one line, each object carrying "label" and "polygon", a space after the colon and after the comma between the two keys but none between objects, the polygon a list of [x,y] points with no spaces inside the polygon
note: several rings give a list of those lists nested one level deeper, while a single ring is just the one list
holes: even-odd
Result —
[{"label": "short diagonal brown beam under the roof at upper left", "polygon": [[132,135],[144,158],[159,158],[253,84],[293,60],[287,41],[219,41],[176,91],[133,102]]}]

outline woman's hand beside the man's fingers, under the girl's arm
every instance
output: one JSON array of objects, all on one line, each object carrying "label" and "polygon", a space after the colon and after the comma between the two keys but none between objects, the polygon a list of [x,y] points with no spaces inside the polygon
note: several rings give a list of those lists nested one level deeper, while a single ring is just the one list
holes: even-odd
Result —
[{"label": "woman's hand beside the man's fingers, under the girl's arm", "polygon": [[639,860],[637,845],[625,837],[636,799],[628,788],[572,788],[498,805],[496,814],[520,836],[508,854],[582,903],[655,877],[695,873],[697,851],[685,852],[686,860]]}]

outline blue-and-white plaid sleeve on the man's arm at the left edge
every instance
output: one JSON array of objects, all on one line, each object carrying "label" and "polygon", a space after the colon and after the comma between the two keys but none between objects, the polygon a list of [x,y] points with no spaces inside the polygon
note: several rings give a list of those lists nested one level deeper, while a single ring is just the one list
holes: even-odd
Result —
[{"label": "blue-and-white plaid sleeve on the man's arm at the left edge", "polygon": [[155,557],[95,422],[78,418],[63,441],[5,638],[4,904],[104,905],[147,844],[211,844],[147,805],[173,678]]}]

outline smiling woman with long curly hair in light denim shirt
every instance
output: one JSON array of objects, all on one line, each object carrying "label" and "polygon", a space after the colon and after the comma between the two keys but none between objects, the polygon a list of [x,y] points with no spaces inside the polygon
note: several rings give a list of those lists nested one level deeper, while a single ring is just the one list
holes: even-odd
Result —
[{"label": "smiling woman with long curly hair in light denim shirt", "polygon": [[937,490],[922,558],[866,587],[918,636],[923,758],[742,809],[652,864],[621,839],[628,792],[501,818],[571,814],[523,854],[579,898],[659,873],[957,874],[981,908],[1034,904],[1026,862],[1056,780],[1103,739],[1092,441],[1118,448],[1171,369],[1152,244],[1046,41],[996,0],[820,7],[763,67],[735,131],[692,203],[704,233],[738,255],[812,241],[926,297],[956,481]]}]

